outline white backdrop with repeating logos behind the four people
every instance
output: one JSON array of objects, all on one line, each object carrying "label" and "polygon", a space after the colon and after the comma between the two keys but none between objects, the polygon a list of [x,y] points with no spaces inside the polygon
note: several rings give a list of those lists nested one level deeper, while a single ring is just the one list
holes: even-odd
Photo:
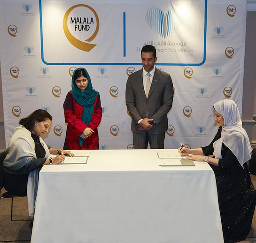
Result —
[{"label": "white backdrop with repeating logos behind the four people", "polygon": [[53,116],[47,144],[61,148],[62,104],[75,68],[100,92],[101,149],[132,149],[125,106],[128,75],[141,68],[141,47],[157,49],[157,68],[175,89],[165,148],[208,144],[213,104],[233,99],[241,112],[246,0],[2,0],[0,63],[6,144],[35,109]]}]

